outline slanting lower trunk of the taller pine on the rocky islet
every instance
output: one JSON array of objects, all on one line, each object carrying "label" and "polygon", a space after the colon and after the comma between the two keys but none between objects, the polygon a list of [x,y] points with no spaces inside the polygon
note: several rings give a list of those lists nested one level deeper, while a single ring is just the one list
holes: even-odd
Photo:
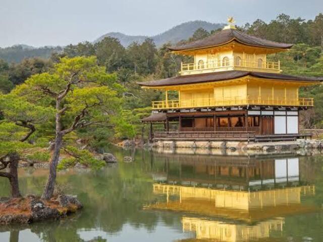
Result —
[{"label": "slanting lower trunk of the taller pine on the rocky islet", "polygon": [[48,181],[47,181],[44,193],[41,196],[41,198],[45,200],[49,200],[54,193],[54,189],[56,185],[57,165],[60,158],[62,140],[63,140],[63,135],[60,133],[57,134],[55,139],[53,155],[49,165]]}]

